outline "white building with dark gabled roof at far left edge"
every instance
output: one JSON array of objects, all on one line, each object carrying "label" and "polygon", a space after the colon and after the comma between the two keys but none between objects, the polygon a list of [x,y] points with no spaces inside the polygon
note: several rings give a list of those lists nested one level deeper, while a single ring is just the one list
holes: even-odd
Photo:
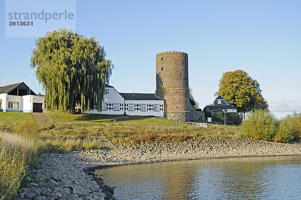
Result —
[{"label": "white building with dark gabled roof at far left edge", "polygon": [[0,87],[0,111],[43,113],[45,98],[37,95],[24,82]]}]

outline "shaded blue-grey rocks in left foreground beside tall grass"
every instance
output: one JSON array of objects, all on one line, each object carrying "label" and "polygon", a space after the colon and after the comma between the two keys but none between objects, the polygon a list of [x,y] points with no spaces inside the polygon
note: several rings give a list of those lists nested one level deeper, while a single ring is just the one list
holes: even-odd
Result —
[{"label": "shaded blue-grey rocks in left foreground beside tall grass", "polygon": [[85,167],[89,162],[76,152],[45,153],[16,199],[114,199],[113,188]]}]

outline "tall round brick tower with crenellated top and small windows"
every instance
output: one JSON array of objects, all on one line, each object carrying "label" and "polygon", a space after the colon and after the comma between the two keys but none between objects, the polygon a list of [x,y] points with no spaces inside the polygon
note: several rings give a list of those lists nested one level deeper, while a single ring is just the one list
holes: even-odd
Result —
[{"label": "tall round brick tower with crenellated top and small windows", "polygon": [[165,117],[189,121],[192,106],[189,101],[188,54],[178,51],[158,53],[156,79],[156,95],[165,99]]}]

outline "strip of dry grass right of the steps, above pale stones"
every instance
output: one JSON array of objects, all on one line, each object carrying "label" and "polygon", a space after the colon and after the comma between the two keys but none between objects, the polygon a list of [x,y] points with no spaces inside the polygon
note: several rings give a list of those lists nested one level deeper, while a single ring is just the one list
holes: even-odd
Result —
[{"label": "strip of dry grass right of the steps, above pale stones", "polygon": [[221,127],[209,125],[208,128],[193,125],[120,125],[103,128],[103,133],[116,145],[128,145],[136,142],[183,141],[198,137],[242,137],[240,127]]}]

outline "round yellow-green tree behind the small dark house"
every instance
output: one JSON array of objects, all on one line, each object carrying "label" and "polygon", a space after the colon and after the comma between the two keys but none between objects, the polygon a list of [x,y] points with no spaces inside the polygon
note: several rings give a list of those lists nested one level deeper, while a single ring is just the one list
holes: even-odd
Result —
[{"label": "round yellow-green tree behind the small dark house", "polygon": [[229,100],[239,113],[246,113],[255,109],[268,109],[267,101],[261,94],[259,83],[242,70],[223,73],[216,95],[221,95]]}]

